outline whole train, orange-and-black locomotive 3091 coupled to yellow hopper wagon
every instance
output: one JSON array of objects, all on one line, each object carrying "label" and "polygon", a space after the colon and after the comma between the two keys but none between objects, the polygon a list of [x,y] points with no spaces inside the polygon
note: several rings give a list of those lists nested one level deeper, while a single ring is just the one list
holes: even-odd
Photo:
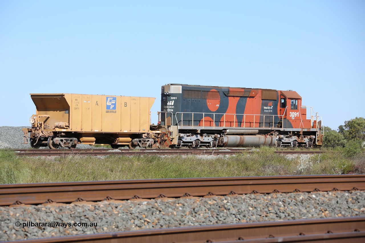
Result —
[{"label": "whole train, orange-and-black locomotive 3091 coupled to yellow hopper wagon", "polygon": [[[151,124],[155,98],[31,94],[37,114],[23,128],[34,148],[77,144],[135,147],[314,147],[322,145],[322,118],[293,90],[167,84]],[[28,136],[28,133],[30,135]]]}]

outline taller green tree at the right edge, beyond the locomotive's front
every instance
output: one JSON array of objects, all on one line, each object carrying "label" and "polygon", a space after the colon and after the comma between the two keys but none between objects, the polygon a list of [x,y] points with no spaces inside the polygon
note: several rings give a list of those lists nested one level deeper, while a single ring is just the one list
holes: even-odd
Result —
[{"label": "taller green tree at the right edge, beyond the locomotive's front", "polygon": [[346,140],[360,139],[365,140],[365,119],[364,117],[356,117],[354,119],[345,121],[344,125],[338,127]]}]

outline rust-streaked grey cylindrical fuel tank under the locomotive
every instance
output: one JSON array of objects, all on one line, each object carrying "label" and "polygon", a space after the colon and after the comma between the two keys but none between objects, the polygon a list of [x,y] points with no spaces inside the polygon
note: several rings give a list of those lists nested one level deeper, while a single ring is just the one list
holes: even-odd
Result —
[{"label": "rust-streaked grey cylindrical fuel tank under the locomotive", "polygon": [[274,146],[276,137],[272,135],[227,135],[223,138],[223,147]]}]

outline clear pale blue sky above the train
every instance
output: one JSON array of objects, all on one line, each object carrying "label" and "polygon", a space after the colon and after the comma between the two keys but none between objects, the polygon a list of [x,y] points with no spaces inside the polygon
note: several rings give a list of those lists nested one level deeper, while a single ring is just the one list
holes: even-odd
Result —
[{"label": "clear pale blue sky above the train", "polygon": [[365,1],[0,0],[0,81],[0,126],[29,126],[29,93],[159,111],[181,83],[296,90],[337,129],[365,117]]}]

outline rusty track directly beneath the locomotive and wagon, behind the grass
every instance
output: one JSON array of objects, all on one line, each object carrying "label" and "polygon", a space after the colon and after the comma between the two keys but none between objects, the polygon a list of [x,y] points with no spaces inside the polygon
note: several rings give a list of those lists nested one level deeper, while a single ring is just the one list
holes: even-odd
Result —
[{"label": "rusty track directly beneath the locomotive and wagon, behind the grass", "polygon": [[[13,150],[18,156],[68,156],[68,155],[234,155],[238,153],[253,153],[247,149],[168,149],[168,150],[149,150],[149,149],[31,149],[31,150]],[[278,154],[320,154],[323,151],[315,150],[277,150]]]}]

